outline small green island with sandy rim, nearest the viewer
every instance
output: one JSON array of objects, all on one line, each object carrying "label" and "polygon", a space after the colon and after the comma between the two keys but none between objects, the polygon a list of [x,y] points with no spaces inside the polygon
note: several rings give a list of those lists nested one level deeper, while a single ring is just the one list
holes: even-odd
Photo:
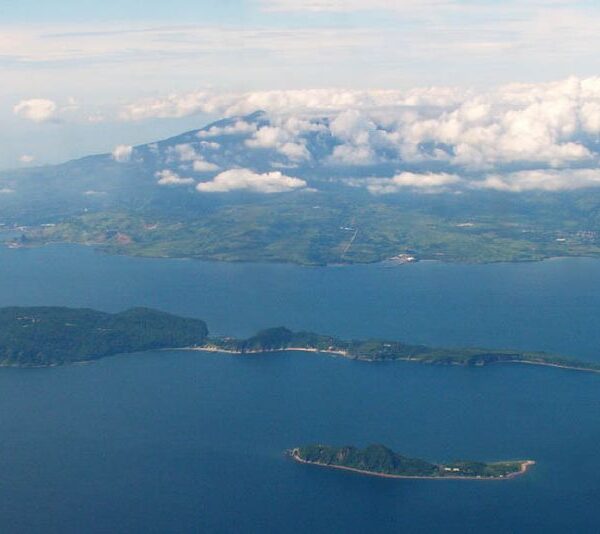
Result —
[{"label": "small green island with sandy rim, nearest the viewer", "polygon": [[332,447],[306,445],[288,451],[295,461],[385,478],[507,480],[523,475],[533,460],[506,462],[458,461],[435,464],[402,456],[384,445]]}]

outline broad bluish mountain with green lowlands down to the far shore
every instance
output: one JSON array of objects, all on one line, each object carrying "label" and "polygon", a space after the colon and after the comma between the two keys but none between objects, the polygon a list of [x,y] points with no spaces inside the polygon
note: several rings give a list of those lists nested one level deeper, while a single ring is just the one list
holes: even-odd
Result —
[{"label": "broad bluish mountain with green lowlands down to the far shore", "polygon": [[483,171],[443,162],[452,147],[423,143],[419,157],[404,158],[392,150],[393,132],[357,121],[256,112],[112,154],[2,172],[0,224],[29,227],[12,246],[71,241],[224,261],[600,254],[597,189],[484,188]]}]

